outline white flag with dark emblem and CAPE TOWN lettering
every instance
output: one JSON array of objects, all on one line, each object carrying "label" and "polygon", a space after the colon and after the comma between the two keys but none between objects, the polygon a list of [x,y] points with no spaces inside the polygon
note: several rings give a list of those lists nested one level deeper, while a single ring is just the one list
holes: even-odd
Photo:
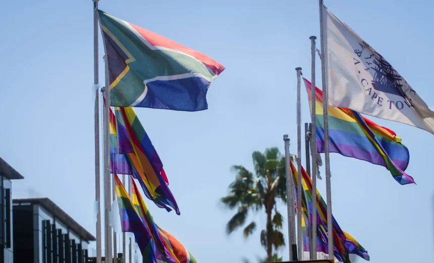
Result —
[{"label": "white flag with dark emblem and CAPE TOWN lettering", "polygon": [[322,6],[329,105],[434,134],[434,112],[386,59]]}]

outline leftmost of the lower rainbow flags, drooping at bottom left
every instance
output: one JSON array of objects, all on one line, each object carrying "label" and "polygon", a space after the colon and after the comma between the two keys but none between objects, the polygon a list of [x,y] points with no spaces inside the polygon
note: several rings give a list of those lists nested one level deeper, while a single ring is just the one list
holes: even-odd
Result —
[{"label": "leftmost of the lower rainbow flags, drooping at bottom left", "polygon": [[151,234],[141,220],[133,202],[130,199],[124,185],[115,174],[116,194],[118,196],[118,205],[121,216],[122,232],[130,232],[134,234],[137,245],[143,257],[143,262],[160,263],[176,261],[173,258],[159,252],[155,247],[155,242]]}]

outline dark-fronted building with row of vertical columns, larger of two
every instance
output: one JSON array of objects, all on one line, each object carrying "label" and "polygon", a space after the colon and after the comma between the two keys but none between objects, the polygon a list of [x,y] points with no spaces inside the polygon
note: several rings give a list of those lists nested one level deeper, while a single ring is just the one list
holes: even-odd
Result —
[{"label": "dark-fronted building with row of vertical columns, larger of two", "polygon": [[48,198],[13,200],[15,263],[85,263],[95,237]]}]

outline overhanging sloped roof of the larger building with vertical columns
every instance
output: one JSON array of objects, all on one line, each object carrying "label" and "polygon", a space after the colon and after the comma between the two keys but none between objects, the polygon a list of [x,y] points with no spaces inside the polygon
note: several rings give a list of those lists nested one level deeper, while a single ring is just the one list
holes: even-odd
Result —
[{"label": "overhanging sloped roof of the larger building with vertical columns", "polygon": [[56,219],[62,221],[69,229],[74,231],[79,237],[87,241],[95,241],[95,237],[90,234],[86,229],[80,226],[74,219],[72,219],[65,211],[58,207],[48,198],[24,198],[14,199],[13,204],[30,203],[31,205],[40,205],[48,213],[51,213]]}]

